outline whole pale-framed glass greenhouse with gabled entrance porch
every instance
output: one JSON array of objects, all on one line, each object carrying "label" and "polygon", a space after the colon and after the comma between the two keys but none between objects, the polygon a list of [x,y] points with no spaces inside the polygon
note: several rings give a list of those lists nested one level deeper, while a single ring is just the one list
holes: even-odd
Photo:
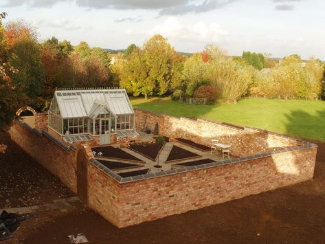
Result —
[{"label": "whole pale-framed glass greenhouse with gabled entrance porch", "polygon": [[111,135],[130,137],[135,113],[125,89],[56,89],[48,112],[48,128],[65,142],[92,140],[110,144]]}]

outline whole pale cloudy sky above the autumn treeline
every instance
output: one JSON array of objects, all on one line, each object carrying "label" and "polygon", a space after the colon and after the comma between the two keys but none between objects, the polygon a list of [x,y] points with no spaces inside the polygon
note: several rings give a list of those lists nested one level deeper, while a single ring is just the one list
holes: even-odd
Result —
[{"label": "whole pale cloudy sky above the autumn treeline", "polygon": [[161,34],[179,52],[214,44],[243,51],[325,60],[324,0],[0,0],[4,23],[23,19],[40,41],[125,49]]}]

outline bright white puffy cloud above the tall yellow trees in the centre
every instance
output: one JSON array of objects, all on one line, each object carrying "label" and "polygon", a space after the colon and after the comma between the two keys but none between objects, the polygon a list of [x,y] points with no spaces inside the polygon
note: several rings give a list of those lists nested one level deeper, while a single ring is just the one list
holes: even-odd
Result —
[{"label": "bright white puffy cloud above the tall yellow trees in the centre", "polygon": [[163,23],[155,25],[148,34],[161,34],[177,41],[220,43],[228,35],[228,32],[222,30],[217,23],[198,22],[194,25],[183,25],[177,17],[168,17]]}]

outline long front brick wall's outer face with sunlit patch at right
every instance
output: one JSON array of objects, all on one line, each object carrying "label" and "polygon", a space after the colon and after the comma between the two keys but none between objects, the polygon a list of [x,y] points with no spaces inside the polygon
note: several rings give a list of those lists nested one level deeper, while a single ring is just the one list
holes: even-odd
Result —
[{"label": "long front brick wall's outer face with sunlit patch at right", "polygon": [[[98,173],[96,179],[107,180],[98,179],[102,184],[92,188],[97,201],[91,207],[105,208],[100,214],[120,228],[135,225],[312,179],[315,155],[316,148],[309,148],[132,181],[120,188],[108,175]],[[113,219],[108,211],[113,211]]]}]

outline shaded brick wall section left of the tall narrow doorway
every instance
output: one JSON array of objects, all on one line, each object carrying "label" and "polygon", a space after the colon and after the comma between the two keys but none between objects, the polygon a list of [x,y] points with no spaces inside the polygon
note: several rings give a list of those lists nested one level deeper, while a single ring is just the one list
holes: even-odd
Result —
[{"label": "shaded brick wall section left of the tall narrow doorway", "polygon": [[72,192],[77,192],[76,155],[65,151],[45,135],[39,136],[18,122],[10,128],[11,138],[49,172],[58,177]]}]

